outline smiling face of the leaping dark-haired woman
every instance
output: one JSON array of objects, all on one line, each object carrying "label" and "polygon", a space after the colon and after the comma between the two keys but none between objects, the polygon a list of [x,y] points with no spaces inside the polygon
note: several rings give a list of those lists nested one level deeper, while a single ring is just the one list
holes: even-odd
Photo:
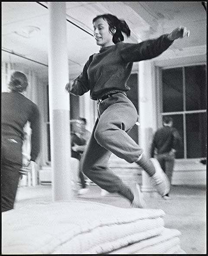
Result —
[{"label": "smiling face of the leaping dark-haired woman", "polygon": [[100,45],[101,48],[114,45],[112,39],[113,35],[109,32],[109,26],[106,20],[103,18],[97,19],[93,23],[94,27],[94,38],[97,45]]}]

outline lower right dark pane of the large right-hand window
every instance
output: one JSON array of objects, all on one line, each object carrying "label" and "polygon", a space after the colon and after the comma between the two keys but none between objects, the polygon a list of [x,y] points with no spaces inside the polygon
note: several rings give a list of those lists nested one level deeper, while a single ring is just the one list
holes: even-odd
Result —
[{"label": "lower right dark pane of the large right-hand window", "polygon": [[187,158],[206,156],[206,113],[186,114]]}]

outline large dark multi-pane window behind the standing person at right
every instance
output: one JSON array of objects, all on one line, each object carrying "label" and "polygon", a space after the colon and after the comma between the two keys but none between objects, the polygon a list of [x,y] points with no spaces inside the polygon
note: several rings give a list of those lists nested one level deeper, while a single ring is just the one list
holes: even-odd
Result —
[{"label": "large dark multi-pane window behind the standing person at right", "polygon": [[162,69],[162,116],[173,118],[183,145],[176,158],[206,156],[206,65]]}]

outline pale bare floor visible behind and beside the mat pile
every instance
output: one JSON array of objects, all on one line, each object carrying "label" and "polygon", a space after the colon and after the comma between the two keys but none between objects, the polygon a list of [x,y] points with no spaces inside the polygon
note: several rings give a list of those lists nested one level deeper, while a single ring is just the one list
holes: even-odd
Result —
[{"label": "pale bare floor visible behind and beside the mat pile", "polygon": [[[187,254],[206,254],[206,187],[172,186],[170,197],[169,200],[159,196],[146,196],[145,199],[148,208],[165,211],[165,227],[181,232],[181,248]],[[88,193],[78,198],[124,208],[130,206],[126,199],[117,194],[101,196],[101,189],[95,185],[90,185]],[[19,187],[15,207],[39,200],[52,200],[51,185]]]}]

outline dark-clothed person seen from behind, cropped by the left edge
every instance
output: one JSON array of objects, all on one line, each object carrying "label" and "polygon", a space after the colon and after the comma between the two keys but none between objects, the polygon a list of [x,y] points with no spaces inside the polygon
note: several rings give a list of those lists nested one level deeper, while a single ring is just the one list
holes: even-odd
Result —
[{"label": "dark-clothed person seen from behind, cropped by the left edge", "polygon": [[[40,150],[39,110],[35,103],[27,99],[28,81],[26,75],[15,71],[10,77],[10,93],[2,93],[1,143],[2,143],[2,194],[1,211],[14,208],[17,186],[22,167],[23,127],[30,122],[31,161],[35,161]],[[27,164],[29,165],[29,163]]]}]

